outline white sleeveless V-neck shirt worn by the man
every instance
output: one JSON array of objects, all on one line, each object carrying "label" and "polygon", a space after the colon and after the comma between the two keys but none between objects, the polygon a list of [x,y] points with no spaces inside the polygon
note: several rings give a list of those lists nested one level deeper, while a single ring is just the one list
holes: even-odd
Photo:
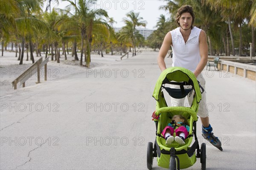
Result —
[{"label": "white sleeveless V-neck shirt worn by the man", "polygon": [[201,60],[199,53],[199,34],[201,29],[194,27],[185,43],[180,27],[170,31],[172,34],[172,66],[195,71]]}]

